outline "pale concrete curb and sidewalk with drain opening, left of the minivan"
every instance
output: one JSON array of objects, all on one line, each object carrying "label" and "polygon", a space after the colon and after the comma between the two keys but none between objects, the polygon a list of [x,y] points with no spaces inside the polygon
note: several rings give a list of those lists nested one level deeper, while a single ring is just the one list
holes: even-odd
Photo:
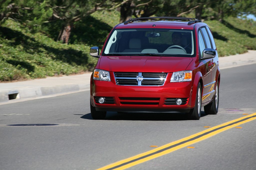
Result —
[{"label": "pale concrete curb and sidewalk with drain opening, left of the minivan", "polygon": [[91,73],[47,77],[23,82],[0,83],[0,104],[90,89]]}]

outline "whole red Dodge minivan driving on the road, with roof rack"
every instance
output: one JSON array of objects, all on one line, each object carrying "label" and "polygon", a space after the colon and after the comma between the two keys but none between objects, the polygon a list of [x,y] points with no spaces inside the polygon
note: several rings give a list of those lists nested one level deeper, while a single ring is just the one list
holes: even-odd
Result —
[{"label": "whole red Dodge minivan driving on the road, with roof rack", "polygon": [[114,112],[217,114],[220,70],[206,23],[194,18],[132,18],[116,25],[97,57],[90,83],[93,119]]}]

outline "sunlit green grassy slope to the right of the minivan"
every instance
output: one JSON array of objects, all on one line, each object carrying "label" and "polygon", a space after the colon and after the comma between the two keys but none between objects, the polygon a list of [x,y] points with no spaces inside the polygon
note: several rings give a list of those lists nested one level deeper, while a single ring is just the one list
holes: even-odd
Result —
[{"label": "sunlit green grassy slope to the right of the minivan", "polygon": [[255,23],[238,18],[225,18],[219,21],[205,21],[211,28],[219,56],[230,56],[256,50]]}]

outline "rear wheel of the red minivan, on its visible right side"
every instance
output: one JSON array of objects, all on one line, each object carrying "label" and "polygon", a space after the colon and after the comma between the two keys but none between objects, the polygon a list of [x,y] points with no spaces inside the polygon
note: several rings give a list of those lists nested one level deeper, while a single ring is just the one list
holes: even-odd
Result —
[{"label": "rear wheel of the red minivan, on its visible right side", "polygon": [[204,107],[206,114],[217,114],[219,109],[219,82],[217,82],[214,99]]}]

